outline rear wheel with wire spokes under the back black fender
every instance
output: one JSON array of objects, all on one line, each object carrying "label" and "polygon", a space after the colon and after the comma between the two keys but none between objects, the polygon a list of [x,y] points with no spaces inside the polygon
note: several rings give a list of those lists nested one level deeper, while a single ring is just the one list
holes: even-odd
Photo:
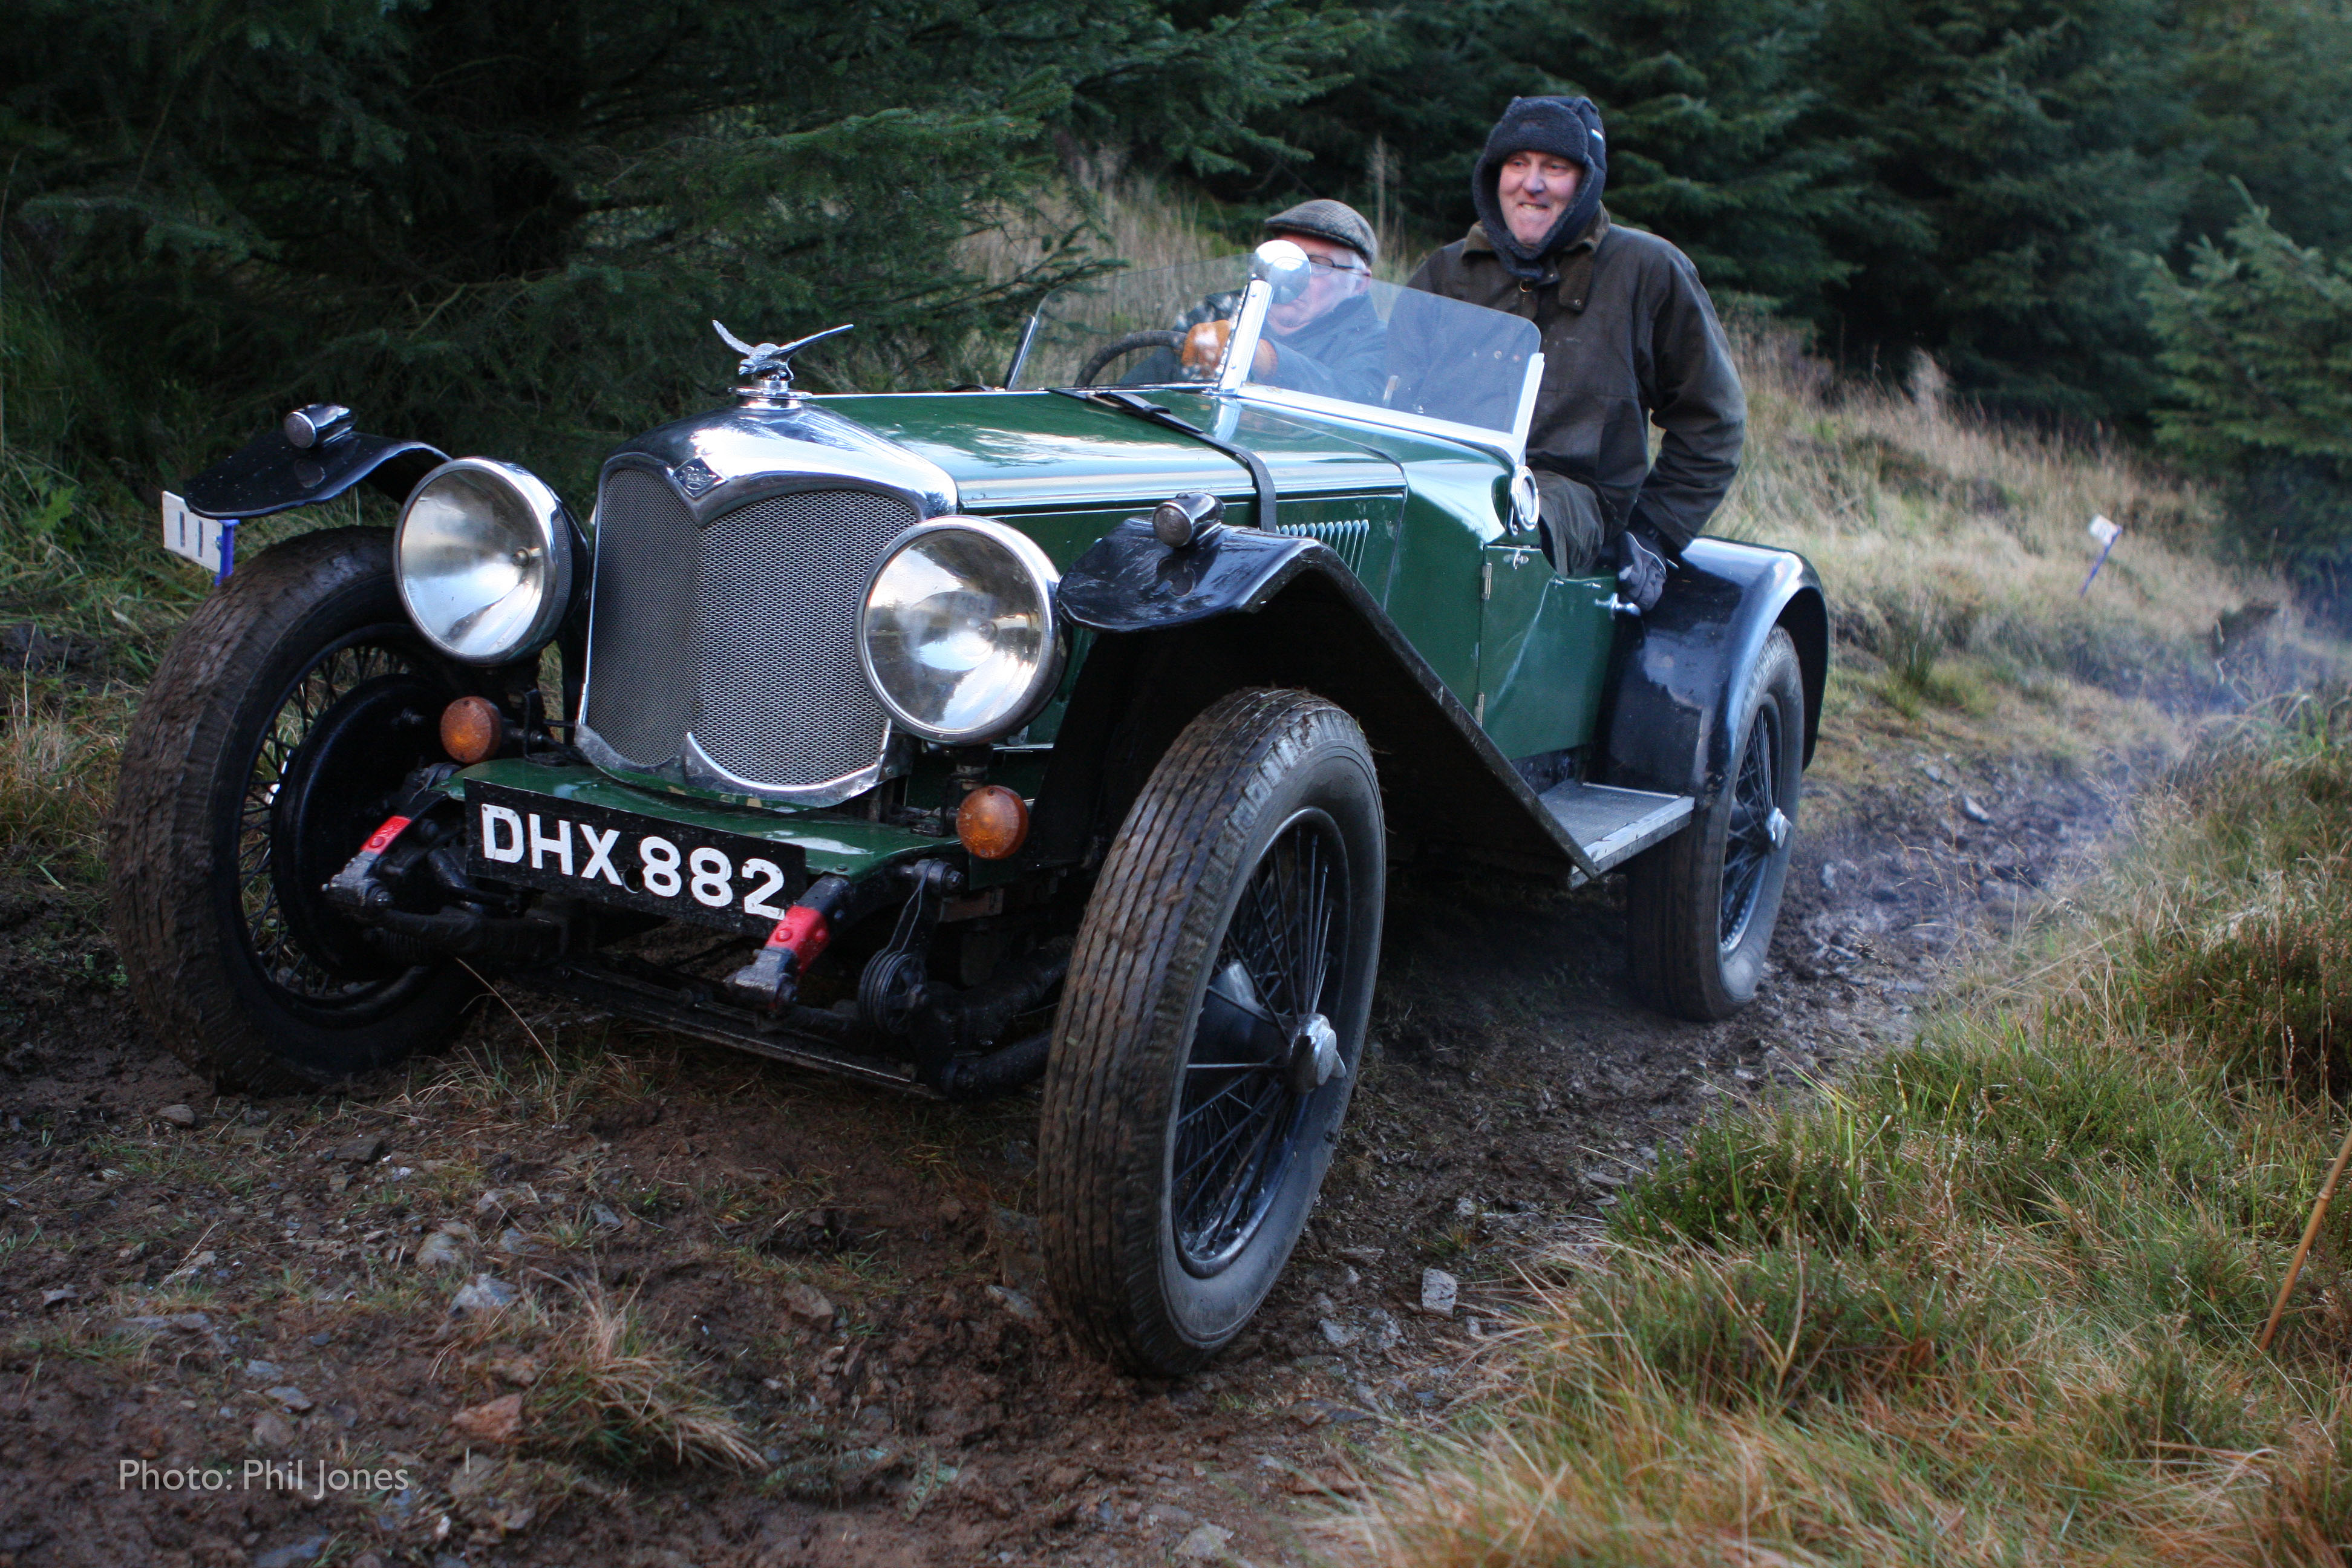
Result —
[{"label": "rear wheel with wire spokes under the back black fender", "polygon": [[1731,771],[1691,825],[1625,879],[1632,980],[1663,1013],[1712,1023],[1748,1006],[1764,973],[1804,785],[1804,672],[1773,630],[1731,710]]}]

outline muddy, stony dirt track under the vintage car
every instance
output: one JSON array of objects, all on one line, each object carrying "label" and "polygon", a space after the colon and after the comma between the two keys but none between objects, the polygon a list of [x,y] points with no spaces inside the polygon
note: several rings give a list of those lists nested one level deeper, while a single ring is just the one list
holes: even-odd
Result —
[{"label": "muddy, stony dirt track under the vintage car", "polygon": [[[1882,776],[1813,802],[1849,827],[1799,842],[1724,1025],[1630,999],[1613,886],[1402,884],[1322,1206],[1176,1385],[1040,1312],[1035,1095],[920,1105],[508,992],[353,1093],[216,1100],[127,1009],[92,893],[0,886],[0,1568],[1303,1561],[1348,1455],[1477,1387],[1522,1260],[1712,1107],[1905,1037],[2110,820],[2030,771]],[[522,1309],[452,1309],[482,1276]],[[760,1469],[557,1441],[543,1338],[590,1298],[706,1363]],[[313,1497],[322,1465],[405,1483]]]}]

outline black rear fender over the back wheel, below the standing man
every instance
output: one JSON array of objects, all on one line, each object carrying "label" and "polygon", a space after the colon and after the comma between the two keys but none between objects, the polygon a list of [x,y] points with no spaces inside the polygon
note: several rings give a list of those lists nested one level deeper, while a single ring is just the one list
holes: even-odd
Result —
[{"label": "black rear fender over the back wheel, below the standing man", "polygon": [[1804,759],[1820,733],[1830,618],[1820,576],[1792,550],[1696,538],[1668,592],[1628,632],[1602,712],[1602,783],[1715,799],[1731,769],[1733,705],[1773,628],[1804,668]]}]

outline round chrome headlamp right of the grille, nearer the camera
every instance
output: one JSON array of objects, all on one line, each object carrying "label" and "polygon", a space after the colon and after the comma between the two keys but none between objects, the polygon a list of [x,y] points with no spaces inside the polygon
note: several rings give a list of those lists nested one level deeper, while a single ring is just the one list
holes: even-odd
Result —
[{"label": "round chrome headlamp right of the grille, nearer the camera", "polygon": [[1061,679],[1061,574],[1023,534],[985,517],[934,517],[875,567],[858,614],[858,663],[898,729],[976,745],[1028,724]]}]

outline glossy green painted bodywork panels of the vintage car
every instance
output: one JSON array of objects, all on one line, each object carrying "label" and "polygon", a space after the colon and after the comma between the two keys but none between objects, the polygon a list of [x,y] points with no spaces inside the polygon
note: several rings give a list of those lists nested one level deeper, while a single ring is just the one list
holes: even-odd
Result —
[{"label": "glossy green painted bodywork panels of the vintage car", "polygon": [[[1479,715],[1505,757],[1569,750],[1592,738],[1613,637],[1609,578],[1559,578],[1503,527],[1510,473],[1484,451],[1374,423],[1272,411],[1200,393],[1157,393],[1169,411],[1256,451],[1279,489],[1275,531],[1317,538],[1362,581],[1439,682]],[[960,512],[1018,527],[1068,569],[1122,520],[1202,489],[1230,522],[1256,527],[1249,473],[1216,447],[1054,393],[898,393],[811,400],[936,463]],[[1080,632],[1056,698],[1011,736],[1054,741],[1091,635]],[[1025,764],[1025,766],[1023,766]],[[1000,748],[1009,783],[1037,778],[1042,755]],[[797,811],[691,785],[649,788],[595,769],[489,762],[492,778],[668,820],[797,844],[811,875],[870,875],[898,858],[955,851],[953,839]],[[946,797],[946,769],[917,762],[908,804]],[[969,860],[974,886],[1007,879]]]}]

